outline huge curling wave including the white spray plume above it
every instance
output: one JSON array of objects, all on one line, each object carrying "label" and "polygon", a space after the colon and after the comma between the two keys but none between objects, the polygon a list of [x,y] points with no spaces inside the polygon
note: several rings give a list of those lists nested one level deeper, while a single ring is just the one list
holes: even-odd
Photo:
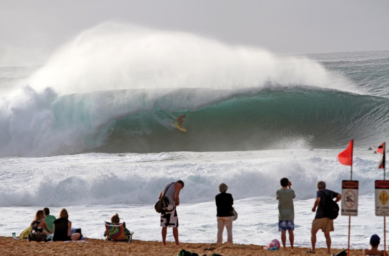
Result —
[{"label": "huge curling wave including the white spray plume above it", "polygon": [[387,99],[354,94],[335,69],[182,32],[106,23],[26,83],[0,101],[0,157],[329,148],[389,133]]}]

